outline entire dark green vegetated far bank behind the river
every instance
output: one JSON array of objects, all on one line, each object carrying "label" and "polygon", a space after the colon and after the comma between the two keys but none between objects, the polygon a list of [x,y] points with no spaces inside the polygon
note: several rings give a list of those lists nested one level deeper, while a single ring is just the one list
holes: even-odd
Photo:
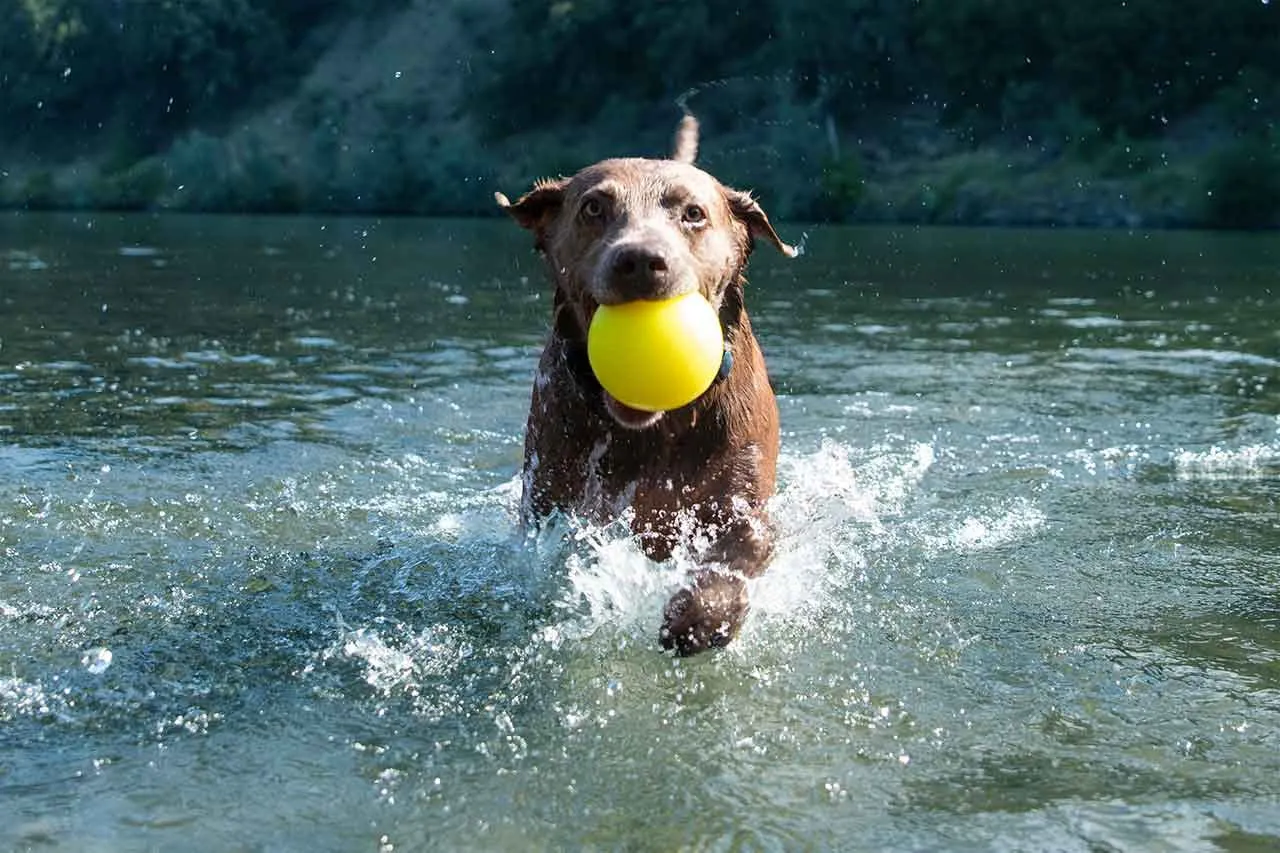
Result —
[{"label": "entire dark green vegetated far bank behind the river", "polygon": [[475,213],[680,101],[780,215],[1268,227],[1276,45],[1267,0],[0,0],[0,202]]}]

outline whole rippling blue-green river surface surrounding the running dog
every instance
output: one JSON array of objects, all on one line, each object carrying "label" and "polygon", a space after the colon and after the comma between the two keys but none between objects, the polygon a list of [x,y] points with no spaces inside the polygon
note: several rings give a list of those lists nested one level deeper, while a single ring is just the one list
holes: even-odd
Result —
[{"label": "whole rippling blue-green river surface surrounding the running dog", "polygon": [[1280,240],[804,242],[676,661],[682,566],[516,535],[525,234],[0,219],[0,848],[1280,847]]}]

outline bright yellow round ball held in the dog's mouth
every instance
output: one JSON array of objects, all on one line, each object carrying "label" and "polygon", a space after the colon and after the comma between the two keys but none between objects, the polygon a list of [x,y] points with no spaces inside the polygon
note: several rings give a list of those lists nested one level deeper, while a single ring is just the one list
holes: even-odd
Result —
[{"label": "bright yellow round ball held in the dog's mouth", "polygon": [[602,305],[586,333],[586,357],[618,402],[668,411],[710,387],[724,357],[724,333],[701,293]]}]

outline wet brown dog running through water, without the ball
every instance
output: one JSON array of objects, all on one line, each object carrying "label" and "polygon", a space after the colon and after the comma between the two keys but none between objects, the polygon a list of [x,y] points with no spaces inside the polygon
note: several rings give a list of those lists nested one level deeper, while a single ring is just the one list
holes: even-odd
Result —
[{"label": "wet brown dog running through water, without the ball", "polygon": [[[701,566],[663,612],[660,642],[681,654],[724,646],[746,616],[746,579],[764,571],[773,534],[778,409],[742,298],[754,238],[787,256],[750,195],[692,165],[686,117],[671,160],[603,160],[540,181],[498,204],[534,232],[556,282],[550,339],[525,435],[522,515],[561,510],[608,523],[630,510],[652,558],[677,544]],[[673,411],[630,409],[600,388],[586,359],[599,305],[700,292],[719,313],[726,356],[698,400]]]}]

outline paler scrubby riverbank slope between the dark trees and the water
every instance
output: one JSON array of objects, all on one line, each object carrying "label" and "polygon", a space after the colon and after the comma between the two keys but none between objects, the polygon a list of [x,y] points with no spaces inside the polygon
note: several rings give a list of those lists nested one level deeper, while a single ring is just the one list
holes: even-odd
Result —
[{"label": "paler scrubby riverbank slope between the dark trees and the water", "polygon": [[[675,97],[494,133],[475,85],[493,31],[476,20],[504,9],[483,0],[353,17],[284,91],[146,155],[110,138],[74,156],[6,151],[0,206],[485,215],[494,190],[520,192],[602,156],[664,152]],[[837,119],[754,76],[708,82],[689,106],[710,115],[701,164],[755,190],[778,218],[1280,225],[1280,146],[1261,117],[1242,132],[1210,108],[1142,140],[1068,117],[978,138],[923,97]]]}]

